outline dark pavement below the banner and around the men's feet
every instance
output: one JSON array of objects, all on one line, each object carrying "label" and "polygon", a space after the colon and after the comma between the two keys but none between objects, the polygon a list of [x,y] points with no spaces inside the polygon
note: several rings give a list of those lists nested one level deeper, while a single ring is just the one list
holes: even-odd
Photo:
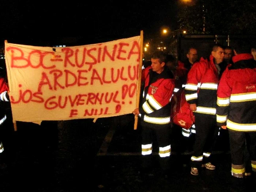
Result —
[{"label": "dark pavement below the banner and around the men's feet", "polygon": [[174,137],[171,171],[166,177],[158,165],[155,142],[153,167],[147,174],[141,172],[140,127],[133,129],[131,115],[99,118],[95,123],[92,119],[56,123],[18,122],[18,131],[13,131],[8,122],[8,128],[0,130],[5,135],[1,162],[7,165],[0,169],[0,192],[255,191],[249,178],[246,189],[233,181],[230,153],[221,139],[212,153],[217,168],[202,168],[199,176],[192,176],[189,159],[193,152],[184,146],[181,150],[182,140]]}]

